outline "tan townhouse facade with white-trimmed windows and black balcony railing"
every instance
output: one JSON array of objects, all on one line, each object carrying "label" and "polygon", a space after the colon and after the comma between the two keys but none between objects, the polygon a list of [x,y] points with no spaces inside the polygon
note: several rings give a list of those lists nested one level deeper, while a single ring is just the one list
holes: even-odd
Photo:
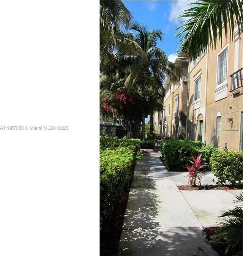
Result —
[{"label": "tan townhouse facade with white-trimmed windows and black balcony railing", "polygon": [[235,33],[234,40],[223,35],[222,45],[190,59],[188,81],[183,85],[166,81],[165,110],[157,114],[161,122],[157,133],[202,141],[219,150],[243,149],[243,39],[242,33],[236,29]]}]

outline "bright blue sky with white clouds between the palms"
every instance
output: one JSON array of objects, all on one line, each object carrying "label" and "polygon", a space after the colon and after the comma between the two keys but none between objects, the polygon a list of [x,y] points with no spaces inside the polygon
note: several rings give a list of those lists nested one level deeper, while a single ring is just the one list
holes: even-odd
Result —
[{"label": "bright blue sky with white clouds between the palms", "polygon": [[[149,30],[160,29],[163,41],[158,41],[158,47],[165,53],[169,61],[174,62],[177,54],[178,38],[175,29],[180,26],[183,19],[178,19],[179,13],[190,7],[194,1],[122,1],[126,8],[133,14],[135,21],[144,23]],[[147,123],[149,120],[145,118]]]}]

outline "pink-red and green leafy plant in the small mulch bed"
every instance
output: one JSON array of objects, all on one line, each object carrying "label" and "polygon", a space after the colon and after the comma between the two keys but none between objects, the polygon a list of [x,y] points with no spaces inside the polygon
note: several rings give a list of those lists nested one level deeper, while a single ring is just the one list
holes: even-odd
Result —
[{"label": "pink-red and green leafy plant in the small mulch bed", "polygon": [[188,170],[187,176],[189,176],[188,185],[190,186],[196,186],[197,179],[199,180],[198,185],[201,185],[202,175],[205,176],[203,168],[207,167],[207,164],[201,163],[201,157],[202,153],[196,159],[192,156],[193,161],[189,160],[189,162],[191,162],[193,165],[191,167],[186,167]]}]

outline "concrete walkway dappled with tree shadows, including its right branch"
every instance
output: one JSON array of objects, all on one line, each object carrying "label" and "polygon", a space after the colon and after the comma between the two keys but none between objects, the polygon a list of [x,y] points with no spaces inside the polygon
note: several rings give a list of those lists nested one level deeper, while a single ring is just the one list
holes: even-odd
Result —
[{"label": "concrete walkway dappled with tree shadows, including its right branch", "polygon": [[[166,171],[159,156],[144,154],[137,161],[117,255],[218,255],[203,227],[217,226],[241,190],[180,191],[186,173]],[[202,184],[213,184],[213,178],[208,172]]]}]

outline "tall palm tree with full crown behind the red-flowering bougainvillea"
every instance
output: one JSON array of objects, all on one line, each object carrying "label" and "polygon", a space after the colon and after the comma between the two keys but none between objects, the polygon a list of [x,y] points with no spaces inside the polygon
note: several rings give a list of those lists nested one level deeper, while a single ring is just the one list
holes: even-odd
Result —
[{"label": "tall palm tree with full crown behind the red-flowering bougainvillea", "polygon": [[[126,69],[129,70],[129,75],[126,78],[125,85],[130,88],[140,86],[143,93],[145,93],[146,86],[153,86],[157,93],[159,88],[163,88],[163,82],[167,76],[174,82],[178,82],[178,77],[183,74],[182,69],[168,61],[164,51],[157,47],[157,41],[162,41],[163,37],[161,30],[150,31],[139,22],[133,22],[130,29],[137,33],[130,32],[126,36],[136,42],[140,49],[123,50],[115,56],[115,61],[131,63]],[[144,107],[142,108],[142,139],[145,140]]]}]

